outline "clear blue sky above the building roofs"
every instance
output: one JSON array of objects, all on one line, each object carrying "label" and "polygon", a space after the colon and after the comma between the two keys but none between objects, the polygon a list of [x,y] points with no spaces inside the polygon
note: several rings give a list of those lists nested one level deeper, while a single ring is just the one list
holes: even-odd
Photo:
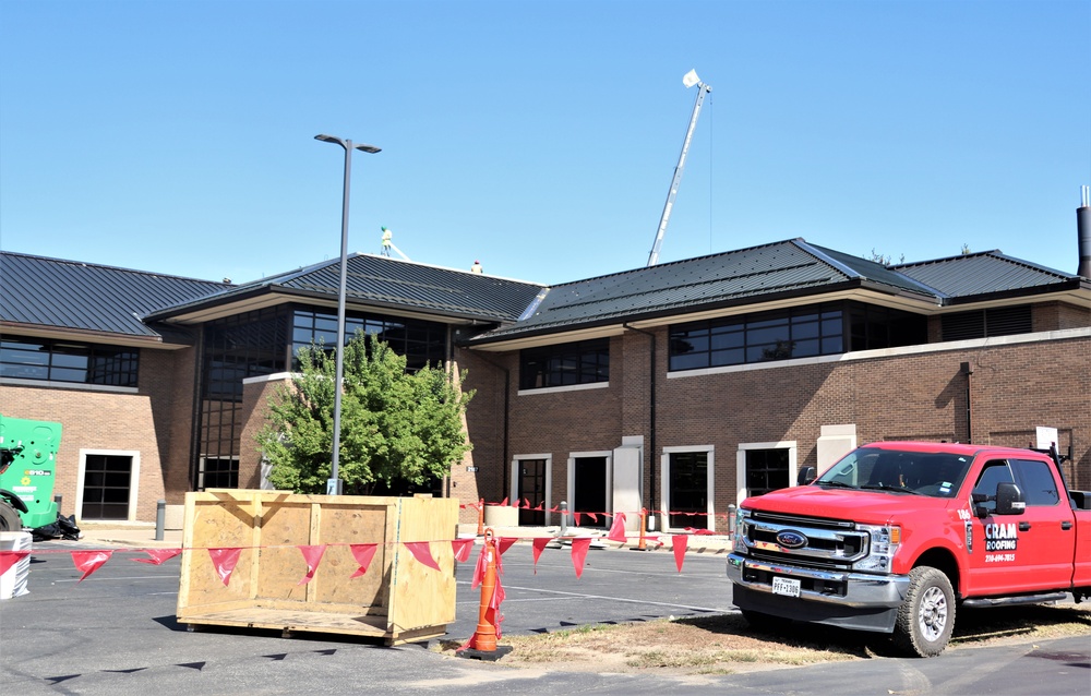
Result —
[{"label": "clear blue sky above the building roofs", "polygon": [[1091,0],[0,0],[0,248],[235,281],[643,267],[803,237],[1075,273]]}]

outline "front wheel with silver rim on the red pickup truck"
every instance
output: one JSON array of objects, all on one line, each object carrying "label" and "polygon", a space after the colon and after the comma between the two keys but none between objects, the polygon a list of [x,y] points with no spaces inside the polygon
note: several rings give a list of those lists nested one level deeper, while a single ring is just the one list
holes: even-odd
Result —
[{"label": "front wheel with silver rim on the red pickup truck", "polygon": [[955,628],[955,591],[942,571],[927,565],[909,574],[909,591],[898,608],[895,644],[911,655],[933,658],[944,651]]}]

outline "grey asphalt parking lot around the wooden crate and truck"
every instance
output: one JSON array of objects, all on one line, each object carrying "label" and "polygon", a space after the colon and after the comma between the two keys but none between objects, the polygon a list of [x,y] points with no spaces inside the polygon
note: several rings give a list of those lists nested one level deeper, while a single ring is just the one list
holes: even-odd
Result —
[{"label": "grey asphalt parking lot around the wooden crate and truck", "polygon": [[[116,552],[77,583],[67,550],[36,544],[28,589],[0,602],[0,683],[5,694],[328,694],[602,693],[662,694],[1083,694],[1091,686],[1091,639],[949,651],[933,660],[875,659],[755,674],[679,679],[509,668],[451,658],[427,645],[376,647],[363,640],[279,632],[188,632],[175,620],[179,561],[132,563]],[[533,572],[529,544],[504,554],[507,635],[591,623],[647,621],[732,611],[723,554],[687,554],[682,573],[669,552],[592,550],[576,579],[567,549],[547,549]],[[457,619],[445,639],[477,624],[472,564],[457,571]],[[503,639],[501,639],[503,643]]]}]

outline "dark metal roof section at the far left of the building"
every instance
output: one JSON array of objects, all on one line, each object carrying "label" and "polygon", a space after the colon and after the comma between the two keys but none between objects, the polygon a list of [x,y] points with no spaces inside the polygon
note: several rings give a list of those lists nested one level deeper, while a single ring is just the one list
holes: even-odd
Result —
[{"label": "dark metal roof section at the far left of the building", "polygon": [[0,321],[156,338],[142,320],[223,283],[0,252]]}]

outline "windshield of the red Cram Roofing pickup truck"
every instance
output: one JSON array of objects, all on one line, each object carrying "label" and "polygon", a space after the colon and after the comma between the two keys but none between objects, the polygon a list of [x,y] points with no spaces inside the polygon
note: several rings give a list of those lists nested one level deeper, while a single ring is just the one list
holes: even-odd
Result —
[{"label": "windshield of the red Cram Roofing pickup truck", "polygon": [[970,457],[963,455],[860,447],[815,484],[954,497],[969,469]]}]

